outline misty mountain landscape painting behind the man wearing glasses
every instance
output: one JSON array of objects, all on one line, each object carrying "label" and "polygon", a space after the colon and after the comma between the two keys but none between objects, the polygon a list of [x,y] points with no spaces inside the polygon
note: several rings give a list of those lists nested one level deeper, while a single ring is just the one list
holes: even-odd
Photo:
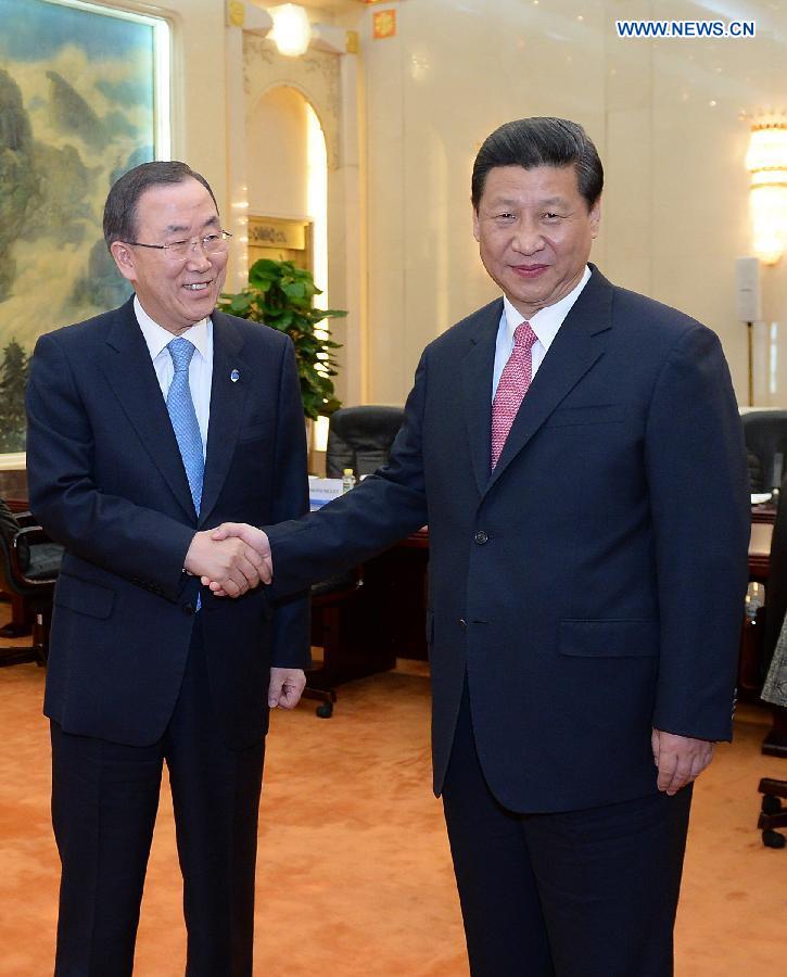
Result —
[{"label": "misty mountain landscape painting behind the man wearing glasses", "polygon": [[[118,12],[119,13],[119,12]],[[0,0],[0,453],[25,446],[36,339],[124,301],[102,236],[112,182],[155,157],[155,26]]]}]

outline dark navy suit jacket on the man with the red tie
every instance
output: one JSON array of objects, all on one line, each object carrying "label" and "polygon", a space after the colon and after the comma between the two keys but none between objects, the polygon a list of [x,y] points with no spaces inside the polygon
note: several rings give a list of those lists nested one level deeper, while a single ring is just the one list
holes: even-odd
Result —
[{"label": "dark navy suit jacket on the man with the red tie", "polygon": [[429,523],[435,790],[467,674],[506,807],[645,796],[651,726],[732,734],[749,490],[727,366],[709,329],[594,268],[491,474],[500,314],[427,347],[385,468],[270,529],[274,587]]}]

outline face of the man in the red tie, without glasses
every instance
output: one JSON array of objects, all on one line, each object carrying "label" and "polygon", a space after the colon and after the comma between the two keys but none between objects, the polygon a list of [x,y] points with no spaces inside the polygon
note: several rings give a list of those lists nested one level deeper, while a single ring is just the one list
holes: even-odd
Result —
[{"label": "face of the man in the red tie, without glasses", "polygon": [[495,166],[473,234],[490,277],[529,319],[577,284],[600,216],[600,201],[588,211],[573,166]]}]

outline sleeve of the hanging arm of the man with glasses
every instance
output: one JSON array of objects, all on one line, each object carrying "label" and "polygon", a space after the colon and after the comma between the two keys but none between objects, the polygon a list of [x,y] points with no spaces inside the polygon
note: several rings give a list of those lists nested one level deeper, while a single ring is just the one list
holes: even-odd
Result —
[{"label": "sleeve of the hanging arm of the man with glasses", "polygon": [[[306,435],[295,351],[288,341],[282,360],[274,465],[274,519],[295,519],[308,511]],[[307,669],[309,654],[309,596],[301,588],[277,601],[274,614],[271,664]]]}]

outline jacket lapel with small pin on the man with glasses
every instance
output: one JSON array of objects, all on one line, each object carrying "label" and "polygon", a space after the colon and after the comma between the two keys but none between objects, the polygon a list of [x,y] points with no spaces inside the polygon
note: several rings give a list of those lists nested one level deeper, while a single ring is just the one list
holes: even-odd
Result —
[{"label": "jacket lapel with small pin on the man with glasses", "polygon": [[[238,355],[243,345],[238,328],[223,313],[214,312],[211,318],[213,381],[200,525],[211,515],[224,486],[238,443],[247,391],[254,382],[252,368]],[[232,376],[238,379],[233,381]]]}]

